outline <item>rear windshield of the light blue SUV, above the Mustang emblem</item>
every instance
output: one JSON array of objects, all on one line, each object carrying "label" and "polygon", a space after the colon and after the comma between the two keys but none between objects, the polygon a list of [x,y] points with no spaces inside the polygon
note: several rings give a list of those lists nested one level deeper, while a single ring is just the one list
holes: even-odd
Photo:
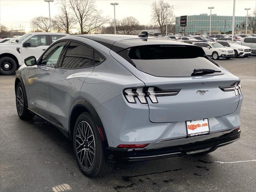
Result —
[{"label": "rear windshield of the light blue SUV, above the Mustang emblem", "polygon": [[[194,69],[220,70],[196,46],[135,46],[130,48],[128,58],[138,70],[159,77],[192,76]],[[219,74],[223,72],[208,75]]]}]

